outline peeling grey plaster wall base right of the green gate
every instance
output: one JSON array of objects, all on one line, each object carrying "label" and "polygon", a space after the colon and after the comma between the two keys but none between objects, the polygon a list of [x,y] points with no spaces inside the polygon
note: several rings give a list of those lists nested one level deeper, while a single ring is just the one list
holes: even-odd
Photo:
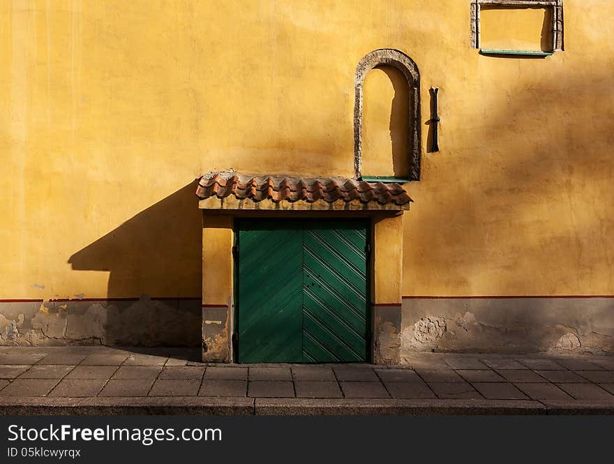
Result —
[{"label": "peeling grey plaster wall base right of the green gate", "polygon": [[435,352],[614,352],[614,298],[403,299],[401,357]]}]

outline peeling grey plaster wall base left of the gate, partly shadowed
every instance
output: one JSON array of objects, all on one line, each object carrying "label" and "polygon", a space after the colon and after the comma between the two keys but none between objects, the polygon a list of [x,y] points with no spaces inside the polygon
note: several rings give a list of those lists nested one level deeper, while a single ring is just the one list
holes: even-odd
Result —
[{"label": "peeling grey plaster wall base left of the gate, partly shadowed", "polygon": [[0,303],[0,345],[199,346],[200,299]]}]

